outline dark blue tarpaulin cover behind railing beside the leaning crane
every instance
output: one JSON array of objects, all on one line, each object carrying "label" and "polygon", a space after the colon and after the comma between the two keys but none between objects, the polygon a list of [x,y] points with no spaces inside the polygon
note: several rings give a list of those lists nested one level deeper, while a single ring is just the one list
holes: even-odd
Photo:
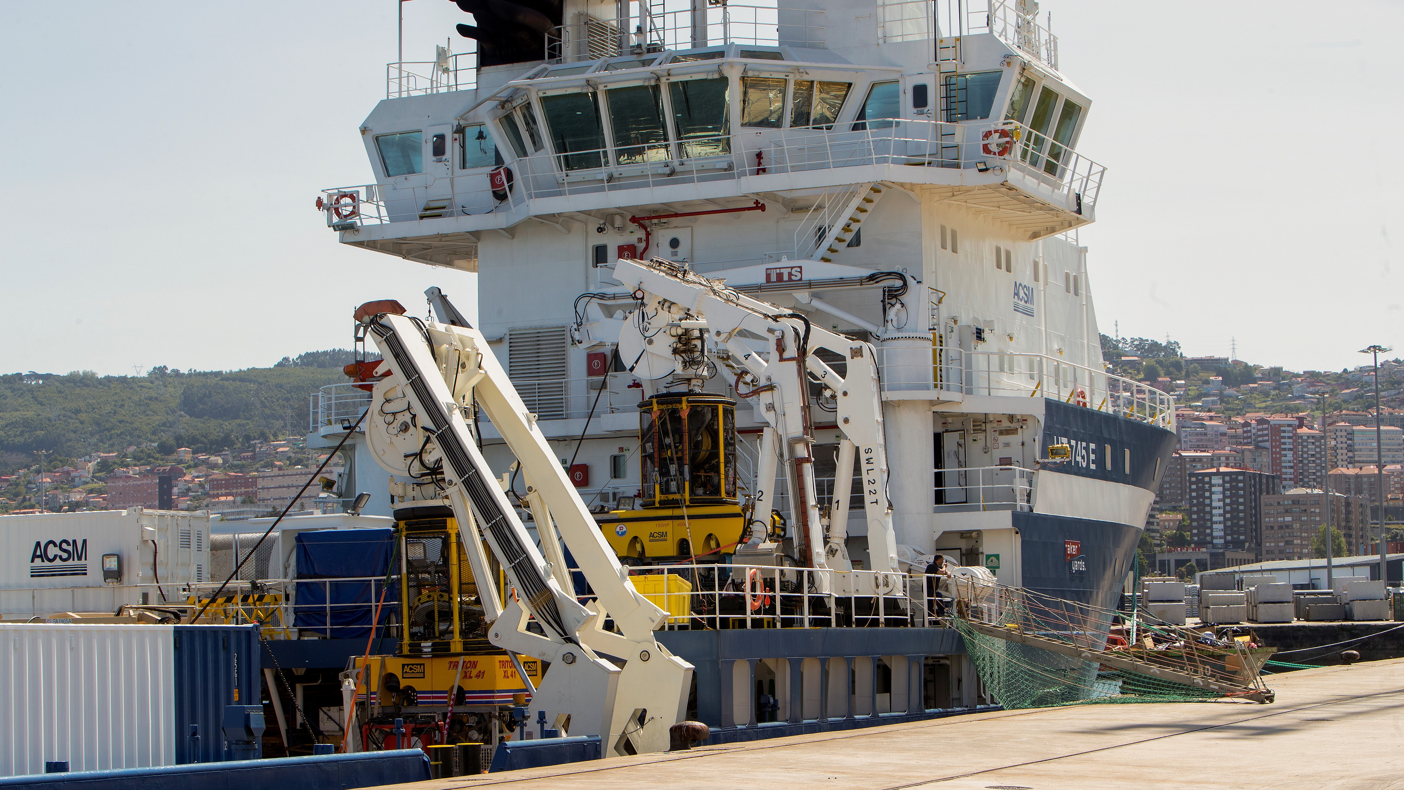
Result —
[{"label": "dark blue tarpaulin cover behind railing beside the leaning crane", "polygon": [[[298,604],[293,626],[327,638],[366,637],[395,555],[395,530],[319,530],[298,536]],[[358,581],[314,581],[314,579]],[[379,624],[399,600],[385,595]]]}]

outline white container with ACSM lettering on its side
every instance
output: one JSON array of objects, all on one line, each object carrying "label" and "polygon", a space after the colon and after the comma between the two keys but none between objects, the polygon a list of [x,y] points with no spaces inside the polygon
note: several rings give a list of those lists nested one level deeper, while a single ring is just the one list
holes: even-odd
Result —
[{"label": "white container with ACSM lettering on its side", "polygon": [[0,617],[184,603],[209,568],[204,510],[0,516]]}]

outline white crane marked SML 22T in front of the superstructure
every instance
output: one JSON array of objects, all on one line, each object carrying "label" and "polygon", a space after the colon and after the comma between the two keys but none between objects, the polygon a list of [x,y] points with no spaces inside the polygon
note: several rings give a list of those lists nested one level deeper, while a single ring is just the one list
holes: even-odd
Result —
[{"label": "white crane marked SML 22T in front of the superstructure", "polygon": [[[737,395],[750,398],[755,413],[768,423],[761,433],[757,470],[761,492],[754,512],[761,517],[771,512],[769,489],[776,460],[783,454],[793,492],[789,499],[796,552],[812,568],[841,572],[833,576],[838,589],[823,592],[890,595],[901,589],[873,346],[814,326],[802,313],[740,294],[685,266],[621,259],[614,271],[615,280],[633,290],[639,306],[623,320],[592,322],[591,336],[601,337],[618,328],[621,358],[646,378],[675,374],[701,388],[713,358],[740,371]],[[842,377],[816,354],[820,349],[845,361]],[[842,433],[827,534],[814,496],[812,384],[835,402],[834,417]],[[844,540],[855,457],[861,461],[875,575],[844,574],[852,571]],[[870,581],[858,582],[859,576]],[[873,589],[863,589],[869,586]]]}]

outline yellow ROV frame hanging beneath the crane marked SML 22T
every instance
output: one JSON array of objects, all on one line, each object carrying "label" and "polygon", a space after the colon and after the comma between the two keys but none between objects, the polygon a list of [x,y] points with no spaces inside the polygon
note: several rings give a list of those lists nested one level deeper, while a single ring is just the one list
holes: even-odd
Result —
[{"label": "yellow ROV frame hanging beneath the crane marked SML 22T", "polygon": [[746,534],[736,481],[736,401],[664,392],[639,403],[642,510],[614,510],[600,527],[623,561],[719,561]]}]

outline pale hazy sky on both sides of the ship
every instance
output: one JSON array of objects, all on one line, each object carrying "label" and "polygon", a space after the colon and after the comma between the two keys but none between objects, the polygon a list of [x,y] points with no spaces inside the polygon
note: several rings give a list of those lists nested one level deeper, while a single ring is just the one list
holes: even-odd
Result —
[{"label": "pale hazy sky on both sides of the ship", "polygon": [[[1345,13],[1346,8],[1349,13]],[[404,3],[406,59],[465,14]],[[1101,329],[1341,368],[1400,347],[1404,3],[1046,0],[1108,166],[1082,231]],[[267,365],[351,311],[473,277],[341,247],[313,201],[371,180],[396,3],[0,1],[0,373]],[[1404,236],[1401,236],[1404,238]]]}]

